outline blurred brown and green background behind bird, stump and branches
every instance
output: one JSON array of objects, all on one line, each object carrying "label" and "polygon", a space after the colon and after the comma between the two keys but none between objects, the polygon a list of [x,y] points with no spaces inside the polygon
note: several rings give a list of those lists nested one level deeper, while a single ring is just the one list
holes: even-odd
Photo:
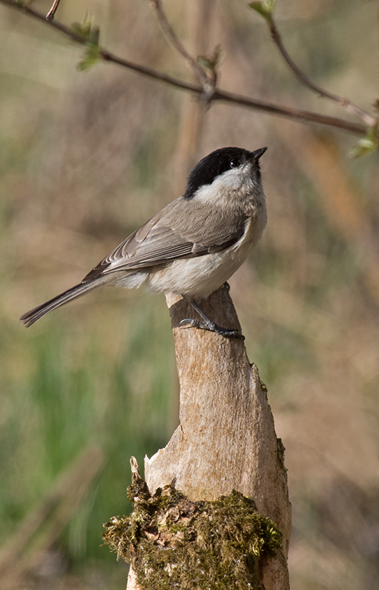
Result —
[{"label": "blurred brown and green background behind bird, stump and branches", "polygon": [[[50,2],[33,6],[47,12]],[[194,53],[221,44],[220,86],[339,117],[301,87],[245,0],[165,0]],[[371,109],[375,1],[278,0],[289,53],[321,86]],[[117,55],[192,81],[148,2],[62,0]],[[120,589],[127,566],[102,523],[130,505],[178,422],[163,296],[99,289],[24,330],[19,316],[71,287],[183,192],[213,149],[267,145],[269,222],[230,280],[251,362],[286,448],[292,590],[379,588],[379,170],[358,137],[215,103],[99,63],[0,5],[0,587]]]}]

